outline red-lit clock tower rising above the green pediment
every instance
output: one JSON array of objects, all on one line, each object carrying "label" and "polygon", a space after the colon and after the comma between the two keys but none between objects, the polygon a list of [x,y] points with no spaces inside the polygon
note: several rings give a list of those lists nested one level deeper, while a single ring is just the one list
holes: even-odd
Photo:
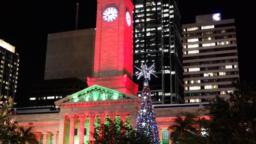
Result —
[{"label": "red-lit clock tower rising above the green pediment", "polygon": [[132,81],[132,10],[130,0],[97,0],[93,78],[87,83],[136,95]]}]

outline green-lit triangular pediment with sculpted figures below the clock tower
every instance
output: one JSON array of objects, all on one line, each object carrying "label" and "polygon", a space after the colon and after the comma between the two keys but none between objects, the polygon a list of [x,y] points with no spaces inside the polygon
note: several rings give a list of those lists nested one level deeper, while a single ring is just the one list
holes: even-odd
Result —
[{"label": "green-lit triangular pediment with sculpted figures below the clock tower", "polygon": [[86,89],[80,90],[70,96],[55,102],[56,105],[60,103],[76,103],[76,102],[95,102],[95,101],[109,101],[122,99],[139,99],[137,96],[125,94],[117,90],[108,89],[100,85],[93,85]]}]

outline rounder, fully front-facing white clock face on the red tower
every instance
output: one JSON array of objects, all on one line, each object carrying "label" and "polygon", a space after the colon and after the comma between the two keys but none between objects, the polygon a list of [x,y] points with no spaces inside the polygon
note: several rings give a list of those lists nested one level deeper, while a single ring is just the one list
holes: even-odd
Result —
[{"label": "rounder, fully front-facing white clock face on the red tower", "polygon": [[102,14],[102,18],[106,21],[106,22],[113,22],[118,15],[118,11],[115,7],[108,7],[104,10],[103,14]]}]

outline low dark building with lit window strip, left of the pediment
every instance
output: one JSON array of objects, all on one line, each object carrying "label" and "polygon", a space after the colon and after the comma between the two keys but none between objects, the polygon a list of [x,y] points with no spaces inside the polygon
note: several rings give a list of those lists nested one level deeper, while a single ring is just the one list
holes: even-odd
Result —
[{"label": "low dark building with lit window strip, left of the pediment", "polygon": [[87,88],[78,78],[48,79],[34,82],[28,93],[28,105],[54,106],[54,102]]}]

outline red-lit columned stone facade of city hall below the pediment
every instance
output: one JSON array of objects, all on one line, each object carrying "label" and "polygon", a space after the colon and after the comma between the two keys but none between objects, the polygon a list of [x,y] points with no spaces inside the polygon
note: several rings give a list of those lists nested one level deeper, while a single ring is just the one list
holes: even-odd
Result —
[{"label": "red-lit columned stone facade of city hall below the pediment", "polygon": [[[57,105],[61,107],[59,113],[13,115],[10,118],[15,118],[22,126],[33,126],[32,132],[35,132],[36,138],[41,144],[76,144],[78,142],[80,144],[81,141],[87,144],[87,140],[93,140],[89,132],[94,131],[93,124],[96,121],[96,117],[104,122],[106,116],[111,119],[120,116],[123,121],[130,120],[133,128],[135,126],[139,98],[134,96],[121,100],[64,102],[67,99],[68,97],[58,101],[60,103]],[[172,144],[169,139],[172,130],[168,129],[168,127],[174,124],[174,118],[179,112],[195,113],[199,108],[204,107],[200,104],[197,106],[169,105],[166,108],[161,108],[161,106],[166,107],[166,105],[157,105],[154,109],[161,144]],[[200,113],[200,115],[203,116],[203,113]],[[83,126],[81,126],[81,122],[84,124]],[[81,137],[82,134],[80,134],[81,127],[87,129],[83,138]],[[72,129],[78,131],[77,135],[70,135]],[[72,140],[70,137],[72,137]]]}]

